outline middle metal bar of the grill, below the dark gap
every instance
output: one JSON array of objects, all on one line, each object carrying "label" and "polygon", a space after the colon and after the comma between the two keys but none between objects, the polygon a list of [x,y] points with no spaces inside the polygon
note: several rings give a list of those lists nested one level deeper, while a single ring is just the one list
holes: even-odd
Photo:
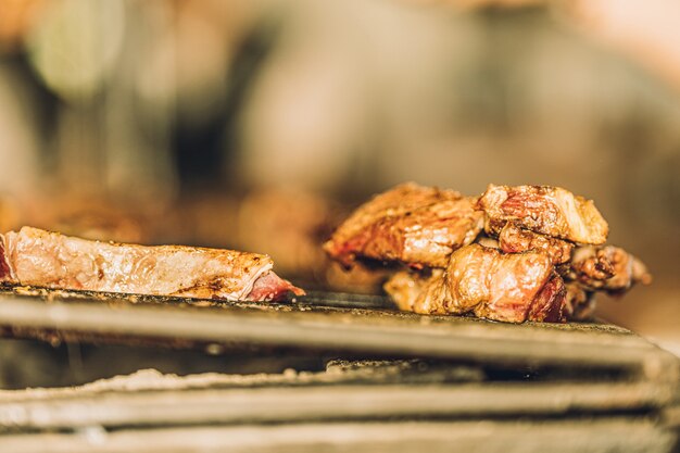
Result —
[{"label": "middle metal bar of the grill, below the dark gap", "polygon": [[[139,380],[139,376],[135,377]],[[116,378],[121,379],[121,378]],[[185,378],[176,378],[182,380]],[[0,393],[3,429],[291,423],[390,417],[565,416],[658,411],[671,394],[653,382],[385,383],[380,373],[291,379],[194,376],[192,386],[147,378],[147,387],[38,389]],[[203,385],[199,385],[201,380]],[[156,381],[154,387],[152,383]],[[282,383],[285,382],[285,383]],[[164,388],[165,387],[165,388]]]}]

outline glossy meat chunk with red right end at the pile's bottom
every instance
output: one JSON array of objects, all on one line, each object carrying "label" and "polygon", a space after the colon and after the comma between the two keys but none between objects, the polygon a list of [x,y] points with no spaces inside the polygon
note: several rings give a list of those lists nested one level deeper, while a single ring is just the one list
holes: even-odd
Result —
[{"label": "glossy meat chunk with red right end at the pile's bottom", "polygon": [[443,274],[399,273],[386,290],[403,310],[464,314],[509,323],[562,322],[566,290],[542,252],[505,254],[470,244],[456,250]]}]

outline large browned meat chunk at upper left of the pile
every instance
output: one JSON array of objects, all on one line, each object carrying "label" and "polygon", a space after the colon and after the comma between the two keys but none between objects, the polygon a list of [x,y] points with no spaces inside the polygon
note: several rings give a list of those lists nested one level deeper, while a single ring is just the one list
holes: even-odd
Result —
[{"label": "large browned meat chunk at upper left of the pile", "polygon": [[404,184],[360,206],[324,249],[345,266],[372,259],[445,267],[449,255],[482,229],[476,201],[453,190]]}]

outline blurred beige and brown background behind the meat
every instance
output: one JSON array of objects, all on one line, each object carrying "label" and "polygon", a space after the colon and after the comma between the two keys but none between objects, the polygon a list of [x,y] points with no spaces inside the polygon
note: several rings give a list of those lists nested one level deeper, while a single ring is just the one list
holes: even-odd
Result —
[{"label": "blurred beige and brown background behind the meat", "polygon": [[0,228],[369,292],[319,244],[372,193],[563,186],[654,274],[599,313],[680,353],[678,23],[673,0],[0,0]]}]

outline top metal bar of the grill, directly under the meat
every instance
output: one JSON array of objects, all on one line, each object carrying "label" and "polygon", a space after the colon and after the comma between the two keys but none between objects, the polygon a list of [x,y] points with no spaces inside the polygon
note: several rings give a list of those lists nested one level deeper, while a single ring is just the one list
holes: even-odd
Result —
[{"label": "top metal bar of the grill, directly under the meat", "polygon": [[[192,305],[202,301],[193,301]],[[677,360],[632,335],[602,324],[509,325],[469,317],[423,316],[391,310],[300,303],[245,304],[182,300],[70,300],[5,295],[5,335],[63,332],[77,339],[150,338],[190,344],[247,343],[385,355],[536,365],[629,367],[651,378],[677,379]],[[654,376],[653,376],[654,375]],[[657,376],[658,375],[658,376]]]}]

